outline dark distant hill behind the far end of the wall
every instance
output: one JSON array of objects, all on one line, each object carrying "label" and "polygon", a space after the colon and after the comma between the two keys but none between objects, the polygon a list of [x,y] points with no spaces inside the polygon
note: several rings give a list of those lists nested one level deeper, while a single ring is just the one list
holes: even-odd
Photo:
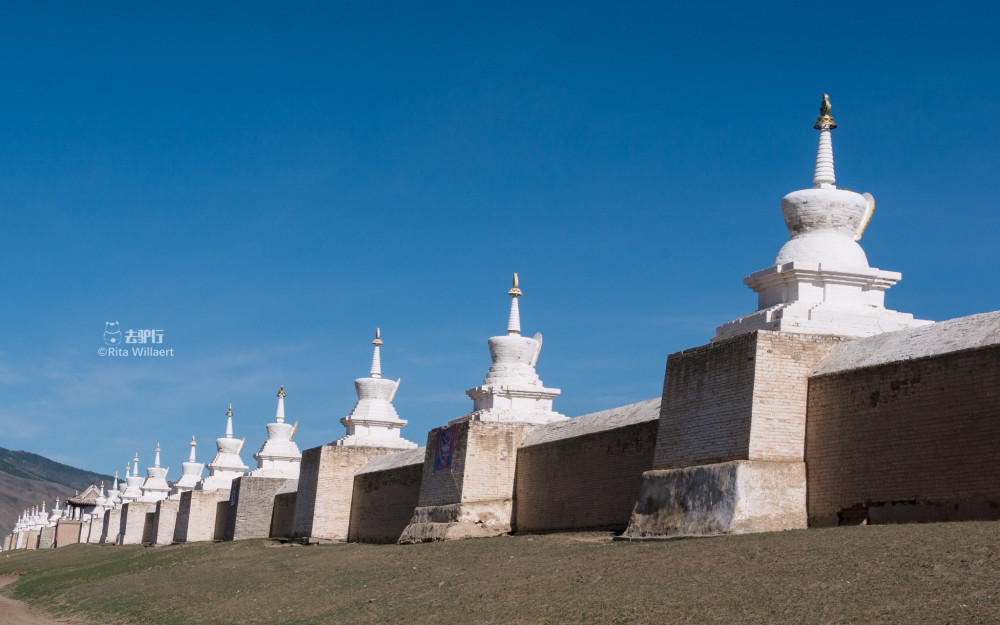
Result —
[{"label": "dark distant hill behind the far end of the wall", "polygon": [[65,499],[76,491],[112,478],[83,471],[27,451],[0,447],[0,536],[6,536],[26,508],[46,502],[51,509],[56,497]]}]

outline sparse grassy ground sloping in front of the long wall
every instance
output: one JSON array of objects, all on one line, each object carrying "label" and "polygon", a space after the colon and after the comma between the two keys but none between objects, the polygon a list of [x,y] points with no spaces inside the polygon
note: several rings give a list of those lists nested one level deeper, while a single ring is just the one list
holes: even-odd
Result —
[{"label": "sparse grassy ground sloping in front of the long wall", "polygon": [[1000,522],[610,536],[71,545],[2,554],[0,575],[24,575],[8,595],[97,623],[1000,622]]}]

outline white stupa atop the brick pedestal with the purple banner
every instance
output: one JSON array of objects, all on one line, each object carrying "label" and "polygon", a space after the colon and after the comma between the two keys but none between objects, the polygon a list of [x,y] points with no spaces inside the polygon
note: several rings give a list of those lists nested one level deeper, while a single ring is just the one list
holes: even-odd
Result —
[{"label": "white stupa atop the brick pedestal with the purple banner", "polygon": [[535,364],[542,351],[542,335],[521,336],[521,313],[517,298],[521,297],[517,274],[510,295],[510,315],[507,334],[489,340],[493,365],[480,386],[465,393],[472,398],[472,412],[450,422],[503,421],[510,423],[551,423],[567,419],[552,410],[552,400],[561,392],[545,388]]}]

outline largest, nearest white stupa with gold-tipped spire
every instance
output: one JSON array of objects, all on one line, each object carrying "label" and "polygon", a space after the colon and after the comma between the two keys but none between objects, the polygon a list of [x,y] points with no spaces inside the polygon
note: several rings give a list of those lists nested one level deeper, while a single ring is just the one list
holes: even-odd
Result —
[{"label": "largest, nearest white stupa with gold-tipped spire", "polygon": [[743,279],[757,295],[757,312],[716,329],[715,340],[753,330],[872,336],[932,323],[885,307],[885,291],[902,277],[868,265],[858,245],[875,199],[837,188],[830,131],[830,100],[823,94],[813,188],[781,200],[790,239],[774,265]]}]

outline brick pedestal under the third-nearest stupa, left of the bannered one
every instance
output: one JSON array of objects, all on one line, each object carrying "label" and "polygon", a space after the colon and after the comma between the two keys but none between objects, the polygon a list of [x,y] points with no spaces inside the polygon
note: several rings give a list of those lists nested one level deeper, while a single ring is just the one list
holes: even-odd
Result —
[{"label": "brick pedestal under the third-nearest stupa, left of the bannered one", "polygon": [[292,538],[346,540],[351,522],[354,474],[385,447],[323,445],[302,452]]}]

